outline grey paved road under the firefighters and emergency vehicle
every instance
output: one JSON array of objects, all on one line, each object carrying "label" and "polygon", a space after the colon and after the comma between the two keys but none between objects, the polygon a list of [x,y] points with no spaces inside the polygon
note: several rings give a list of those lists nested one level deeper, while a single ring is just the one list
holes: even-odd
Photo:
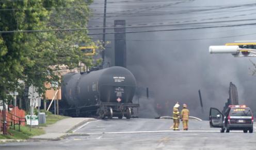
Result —
[{"label": "grey paved road under the firefighters and emergency vehicle", "polygon": [[[82,125],[60,141],[6,143],[0,149],[255,149],[256,133],[220,133],[208,121],[190,121],[188,131],[169,129],[159,119],[96,120]],[[256,128],[254,128],[256,130]]]}]

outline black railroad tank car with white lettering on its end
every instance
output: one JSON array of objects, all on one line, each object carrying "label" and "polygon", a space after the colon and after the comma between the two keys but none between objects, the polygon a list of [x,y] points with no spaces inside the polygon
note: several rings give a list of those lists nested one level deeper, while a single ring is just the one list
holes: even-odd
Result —
[{"label": "black railroad tank car with white lettering on its end", "polygon": [[120,66],[83,73],[68,73],[61,83],[60,109],[67,116],[96,115],[101,119],[130,119],[139,104],[132,102],[136,91],[133,73]]}]

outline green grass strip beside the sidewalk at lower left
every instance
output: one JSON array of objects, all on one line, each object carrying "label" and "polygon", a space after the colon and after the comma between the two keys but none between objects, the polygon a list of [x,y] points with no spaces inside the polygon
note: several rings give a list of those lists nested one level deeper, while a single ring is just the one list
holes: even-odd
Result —
[{"label": "green grass strip beside the sidewalk at lower left", "polygon": [[15,130],[13,130],[12,127],[8,129],[8,135],[0,134],[0,139],[29,139],[30,137],[33,137],[33,136],[39,136],[45,133],[41,126],[47,126],[50,124],[54,124],[55,122],[61,119],[69,118],[66,116],[53,115],[49,111],[45,112],[45,114],[46,114],[46,123],[40,124],[39,127],[38,126],[31,127],[31,132],[30,132],[29,125],[21,126],[20,132],[18,130],[19,129],[18,125],[16,125]]}]

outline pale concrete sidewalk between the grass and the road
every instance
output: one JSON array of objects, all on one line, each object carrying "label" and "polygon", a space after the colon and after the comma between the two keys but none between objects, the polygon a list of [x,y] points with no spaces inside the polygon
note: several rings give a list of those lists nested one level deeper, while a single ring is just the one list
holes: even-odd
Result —
[{"label": "pale concrete sidewalk between the grass and the road", "polygon": [[44,135],[34,136],[32,140],[58,140],[61,137],[69,136],[69,132],[81,126],[82,124],[96,120],[94,118],[66,118],[54,124],[43,127]]}]

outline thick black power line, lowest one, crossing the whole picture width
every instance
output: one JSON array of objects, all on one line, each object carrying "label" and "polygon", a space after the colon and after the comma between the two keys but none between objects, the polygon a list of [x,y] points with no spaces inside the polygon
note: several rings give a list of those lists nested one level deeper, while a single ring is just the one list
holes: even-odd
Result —
[{"label": "thick black power line, lowest one, crossing the whole picture width", "polygon": [[[222,25],[222,26],[207,26],[207,27],[195,27],[195,28],[180,28],[180,29],[162,29],[162,30],[144,30],[144,31],[126,31],[126,32],[107,32],[107,33],[88,33],[87,35],[101,35],[101,34],[115,34],[115,33],[142,33],[142,32],[159,32],[159,31],[179,31],[179,30],[194,30],[194,29],[207,29],[207,28],[223,28],[223,27],[237,27],[237,26],[249,26],[256,25],[256,23],[250,24],[237,24],[237,25]],[[81,31],[88,30],[87,28],[75,28],[75,29],[46,29],[46,30],[13,30],[13,31],[0,31],[0,33],[19,33],[19,32],[53,32],[53,31]]]}]

